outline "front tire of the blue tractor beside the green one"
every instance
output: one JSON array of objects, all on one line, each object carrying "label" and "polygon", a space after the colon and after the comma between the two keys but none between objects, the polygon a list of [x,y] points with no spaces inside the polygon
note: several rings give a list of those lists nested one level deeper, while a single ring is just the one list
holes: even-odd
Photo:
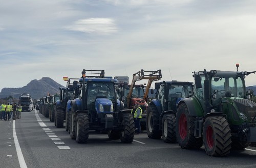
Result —
[{"label": "front tire of the blue tractor beside the green one", "polygon": [[162,136],[165,143],[176,143],[176,116],[174,114],[163,115]]}]

